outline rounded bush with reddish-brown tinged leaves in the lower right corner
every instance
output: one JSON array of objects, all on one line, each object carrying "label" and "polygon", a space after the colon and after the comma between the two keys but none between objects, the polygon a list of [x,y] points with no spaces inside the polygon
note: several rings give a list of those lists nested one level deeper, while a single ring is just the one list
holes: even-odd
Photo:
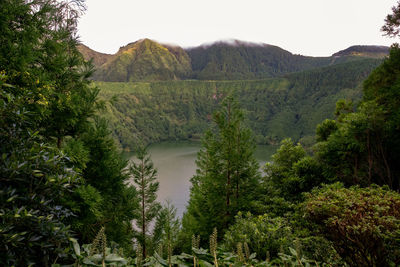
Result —
[{"label": "rounded bush with reddish-brown tinged leaves in the lower right corner", "polygon": [[400,195],[386,188],[324,186],[307,194],[307,218],[352,266],[400,261]]}]

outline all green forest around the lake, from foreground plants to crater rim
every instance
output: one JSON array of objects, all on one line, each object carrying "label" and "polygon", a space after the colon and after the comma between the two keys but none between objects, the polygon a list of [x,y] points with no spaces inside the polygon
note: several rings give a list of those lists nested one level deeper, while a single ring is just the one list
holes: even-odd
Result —
[{"label": "all green forest around the lake, from foreground plants to crater rim", "polygon": [[[400,264],[398,44],[380,61],[276,79],[100,83],[78,49],[84,11],[80,0],[0,2],[2,266]],[[386,35],[399,37],[399,17],[400,3]],[[255,105],[266,92],[274,101]],[[336,102],[333,114],[319,101]],[[311,118],[283,139],[293,115]],[[137,130],[137,161],[122,157],[117,119]],[[182,219],[156,201],[146,149],[179,135],[202,144]],[[280,148],[261,172],[253,152],[263,139]]]}]

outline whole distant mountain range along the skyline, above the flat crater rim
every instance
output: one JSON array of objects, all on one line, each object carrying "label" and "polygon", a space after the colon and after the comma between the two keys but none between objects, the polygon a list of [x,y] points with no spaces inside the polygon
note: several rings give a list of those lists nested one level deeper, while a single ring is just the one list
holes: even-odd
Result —
[{"label": "whole distant mountain range along the skyline, above the flat crater rim", "polygon": [[96,67],[98,81],[248,80],[279,77],[364,58],[383,58],[385,46],[352,46],[331,57],[294,55],[280,47],[239,40],[218,41],[183,49],[141,39],[114,55],[85,45],[79,50]]}]

